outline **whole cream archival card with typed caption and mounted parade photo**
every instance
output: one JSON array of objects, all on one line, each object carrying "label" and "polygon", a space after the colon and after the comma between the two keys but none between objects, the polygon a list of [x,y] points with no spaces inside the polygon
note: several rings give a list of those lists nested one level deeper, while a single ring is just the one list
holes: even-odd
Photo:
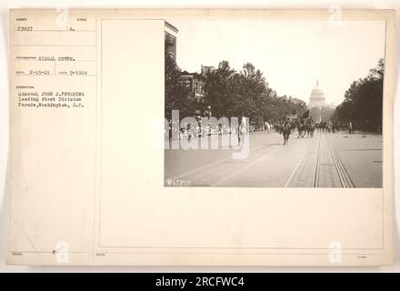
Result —
[{"label": "whole cream archival card with typed caption and mounted parade photo", "polygon": [[8,18],[10,268],[393,264],[395,10]]}]

